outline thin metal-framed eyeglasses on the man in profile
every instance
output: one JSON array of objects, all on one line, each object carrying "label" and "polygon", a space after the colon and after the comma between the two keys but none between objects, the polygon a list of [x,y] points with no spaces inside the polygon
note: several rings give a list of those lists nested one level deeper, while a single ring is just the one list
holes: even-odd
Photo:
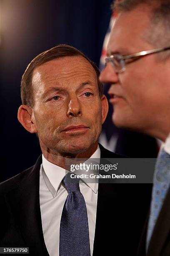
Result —
[{"label": "thin metal-framed eyeglasses on the man in profile", "polygon": [[148,50],[148,51],[140,51],[136,54],[131,54],[131,55],[126,55],[123,56],[121,54],[112,54],[110,55],[110,57],[105,59],[105,62],[110,62],[112,67],[114,68],[116,73],[121,73],[123,71],[125,71],[126,67],[126,60],[135,60],[138,59],[140,57],[146,56],[148,54],[154,54],[154,53],[158,53],[161,51],[167,51],[170,50],[170,47],[165,47],[165,48],[159,48],[159,49],[153,49],[153,50]]}]

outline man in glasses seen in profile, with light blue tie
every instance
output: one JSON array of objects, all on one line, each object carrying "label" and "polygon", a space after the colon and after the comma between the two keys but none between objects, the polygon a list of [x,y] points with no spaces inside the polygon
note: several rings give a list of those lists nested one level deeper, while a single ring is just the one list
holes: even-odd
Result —
[{"label": "man in glasses seen in profile, with light blue tie", "polygon": [[[138,255],[170,255],[170,1],[121,0],[101,82],[111,84],[112,121],[163,141]],[[140,146],[140,145],[139,145]],[[146,145],[147,147],[147,145]]]}]

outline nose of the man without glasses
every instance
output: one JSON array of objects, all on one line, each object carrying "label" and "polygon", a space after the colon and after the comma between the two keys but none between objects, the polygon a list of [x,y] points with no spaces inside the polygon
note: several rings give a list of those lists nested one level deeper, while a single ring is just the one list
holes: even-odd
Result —
[{"label": "nose of the man without glasses", "polygon": [[77,96],[71,97],[69,104],[68,104],[68,111],[67,111],[67,116],[71,117],[71,116],[81,116],[82,115],[82,111],[81,111],[81,106],[80,106],[80,102],[77,99]]}]

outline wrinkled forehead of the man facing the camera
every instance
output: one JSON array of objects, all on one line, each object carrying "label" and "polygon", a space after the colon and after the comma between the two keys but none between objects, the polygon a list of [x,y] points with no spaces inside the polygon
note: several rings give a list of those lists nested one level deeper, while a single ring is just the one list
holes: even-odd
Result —
[{"label": "wrinkled forehead of the man facing the camera", "polygon": [[69,86],[71,82],[86,81],[96,83],[97,74],[90,62],[82,56],[67,56],[47,61],[36,67],[32,74],[34,90],[45,90],[45,87],[58,84]]}]

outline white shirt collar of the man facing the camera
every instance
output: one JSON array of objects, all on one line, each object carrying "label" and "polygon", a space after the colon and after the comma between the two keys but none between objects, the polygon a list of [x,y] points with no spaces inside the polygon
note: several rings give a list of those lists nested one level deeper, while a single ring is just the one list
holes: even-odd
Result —
[{"label": "white shirt collar of the man facing the camera", "polygon": [[[100,162],[99,146],[97,146],[95,153],[92,154],[92,156],[90,156],[90,159],[92,158],[99,159],[99,162]],[[42,154],[41,170],[42,170],[42,177],[45,181],[45,184],[47,185],[47,188],[51,192],[52,196],[56,197],[57,191],[60,187],[60,183],[62,182],[62,179],[64,178],[67,171],[62,167],[57,166],[56,164],[52,164],[50,161],[45,159],[43,154]],[[97,193],[98,184],[96,181],[94,181],[95,183],[86,183],[85,180],[83,180],[83,182],[87,184],[87,186],[90,187],[93,192]]]}]

